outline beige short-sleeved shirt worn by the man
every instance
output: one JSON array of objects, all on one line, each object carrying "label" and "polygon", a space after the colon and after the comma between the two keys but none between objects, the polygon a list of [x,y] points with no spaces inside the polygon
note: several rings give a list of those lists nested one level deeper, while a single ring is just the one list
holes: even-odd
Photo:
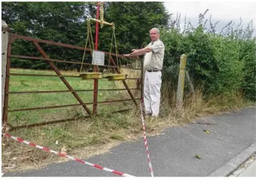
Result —
[{"label": "beige short-sleeved shirt worn by the man", "polygon": [[156,40],[147,45],[152,51],[144,55],[144,70],[162,69],[162,63],[165,55],[165,45],[161,40]]}]

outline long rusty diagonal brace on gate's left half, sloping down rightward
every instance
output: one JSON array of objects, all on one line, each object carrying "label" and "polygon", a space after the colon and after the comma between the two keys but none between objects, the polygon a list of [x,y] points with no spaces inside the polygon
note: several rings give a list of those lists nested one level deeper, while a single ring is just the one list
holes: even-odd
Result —
[{"label": "long rusty diagonal brace on gate's left half, sloping down rightward", "polygon": [[[40,45],[37,42],[33,42],[34,45],[37,47],[37,50],[40,51],[40,54],[43,55],[43,57],[45,57],[46,59],[49,59],[49,57],[47,56],[47,54],[43,51],[43,49],[40,47]],[[57,75],[61,76],[61,72],[58,70],[58,68],[54,65],[54,63],[52,63],[51,61],[47,61],[47,63],[49,63],[49,65],[51,66],[51,68],[56,72]],[[61,81],[63,81],[63,83],[66,85],[66,87],[68,88],[68,90],[73,90],[73,88],[70,86],[70,84],[66,81],[66,79],[64,77],[60,77]],[[77,99],[77,101],[79,101],[80,104],[85,104],[82,99],[79,97],[79,95],[76,94],[76,92],[72,92],[72,94],[75,96],[75,98]],[[86,112],[91,115],[91,111],[88,109],[88,107],[86,107],[86,105],[82,105],[82,107],[86,110]]]}]

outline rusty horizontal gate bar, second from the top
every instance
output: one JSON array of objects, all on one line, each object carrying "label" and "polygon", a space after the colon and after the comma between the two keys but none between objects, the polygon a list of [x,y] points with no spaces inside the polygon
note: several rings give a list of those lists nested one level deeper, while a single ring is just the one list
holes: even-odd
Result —
[{"label": "rusty horizontal gate bar, second from the top", "polygon": [[[71,64],[82,65],[81,62],[73,62],[73,61],[58,60],[58,59],[51,59],[51,58],[46,59],[44,57],[29,57],[29,56],[16,55],[16,54],[11,54],[10,57],[18,57],[18,58],[29,59],[29,60],[48,60],[48,61],[52,61],[52,62],[71,63]],[[83,65],[93,66],[91,63],[83,63]],[[104,66],[104,67],[118,68],[118,66]],[[122,67],[122,68],[123,69],[135,69],[135,68],[129,68],[129,67]],[[141,70],[141,69],[135,69],[135,70]]]}]

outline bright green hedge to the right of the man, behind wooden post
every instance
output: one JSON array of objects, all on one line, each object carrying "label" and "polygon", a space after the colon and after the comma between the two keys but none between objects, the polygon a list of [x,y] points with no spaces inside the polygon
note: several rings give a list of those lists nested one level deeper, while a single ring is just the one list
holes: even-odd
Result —
[{"label": "bright green hedge to the right of the man, behind wooden post", "polygon": [[186,69],[195,87],[217,95],[240,91],[255,100],[256,41],[252,22],[245,29],[241,23],[234,28],[234,23],[229,22],[218,34],[211,19],[206,28],[206,13],[199,15],[196,28],[189,22],[182,30],[177,16],[171,21],[171,28],[161,29],[165,43],[163,80],[177,89],[180,55],[186,54]]}]

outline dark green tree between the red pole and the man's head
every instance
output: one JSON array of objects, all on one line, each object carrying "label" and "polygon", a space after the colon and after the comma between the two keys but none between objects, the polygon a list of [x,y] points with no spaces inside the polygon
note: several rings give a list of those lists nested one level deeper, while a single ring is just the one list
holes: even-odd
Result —
[{"label": "dark green tree between the red pole and the man's head", "polygon": [[[150,28],[168,26],[170,15],[163,2],[119,1],[107,2],[104,19],[115,23],[115,34],[118,39],[120,54],[129,53],[132,48],[141,48],[149,43]],[[111,30],[100,29],[100,48],[109,51]]]}]

